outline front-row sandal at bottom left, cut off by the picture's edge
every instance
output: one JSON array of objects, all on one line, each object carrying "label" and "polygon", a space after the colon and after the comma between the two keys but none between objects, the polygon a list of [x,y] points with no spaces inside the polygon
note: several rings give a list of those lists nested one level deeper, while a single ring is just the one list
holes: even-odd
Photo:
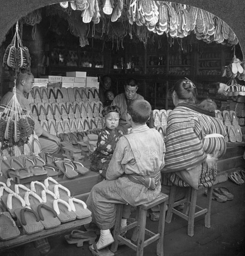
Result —
[{"label": "front-row sandal at bottom left, cut off by the picture's edge", "polygon": [[0,240],[6,241],[8,239],[20,236],[20,230],[16,226],[14,220],[8,212],[0,213]]}]

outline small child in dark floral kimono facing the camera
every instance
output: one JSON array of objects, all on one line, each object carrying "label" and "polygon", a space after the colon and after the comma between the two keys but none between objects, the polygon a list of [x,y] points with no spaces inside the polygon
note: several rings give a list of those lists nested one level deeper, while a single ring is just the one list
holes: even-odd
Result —
[{"label": "small child in dark floral kimono facing the camera", "polygon": [[123,136],[123,133],[117,130],[119,113],[118,106],[108,106],[102,110],[106,128],[99,133],[96,149],[89,156],[90,170],[99,172],[99,182],[106,179],[106,170],[112,159],[116,143]]}]

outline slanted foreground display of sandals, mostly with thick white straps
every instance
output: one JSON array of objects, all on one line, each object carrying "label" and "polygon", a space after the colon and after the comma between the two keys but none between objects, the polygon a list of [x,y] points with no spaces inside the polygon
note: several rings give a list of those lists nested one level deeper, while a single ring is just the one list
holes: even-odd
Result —
[{"label": "slanted foreground display of sandals, mostly with thick white straps", "polygon": [[71,196],[69,189],[52,177],[25,185],[8,178],[0,186],[0,226],[5,226],[0,240],[3,241],[91,216],[86,203]]}]

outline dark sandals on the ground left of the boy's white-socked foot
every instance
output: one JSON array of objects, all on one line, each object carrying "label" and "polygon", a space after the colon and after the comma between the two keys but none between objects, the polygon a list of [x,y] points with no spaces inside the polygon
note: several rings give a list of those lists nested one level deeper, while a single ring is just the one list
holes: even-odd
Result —
[{"label": "dark sandals on the ground left of the boy's white-socked foot", "polygon": [[97,235],[93,231],[81,231],[74,229],[70,235],[66,235],[66,242],[69,244],[76,243],[77,247],[83,246],[83,243],[88,241],[89,244],[93,244]]}]

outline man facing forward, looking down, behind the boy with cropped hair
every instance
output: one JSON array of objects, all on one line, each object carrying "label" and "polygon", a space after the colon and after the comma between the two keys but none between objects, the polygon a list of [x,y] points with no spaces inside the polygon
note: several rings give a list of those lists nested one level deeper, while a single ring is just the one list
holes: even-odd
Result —
[{"label": "man facing forward, looking down, behind the boy with cropped hair", "polygon": [[126,81],[125,92],[118,94],[113,102],[113,105],[117,105],[120,108],[120,119],[118,129],[124,134],[127,133],[127,129],[130,125],[126,122],[127,105],[131,100],[144,100],[144,97],[137,94],[138,83],[135,79],[129,79]]}]

